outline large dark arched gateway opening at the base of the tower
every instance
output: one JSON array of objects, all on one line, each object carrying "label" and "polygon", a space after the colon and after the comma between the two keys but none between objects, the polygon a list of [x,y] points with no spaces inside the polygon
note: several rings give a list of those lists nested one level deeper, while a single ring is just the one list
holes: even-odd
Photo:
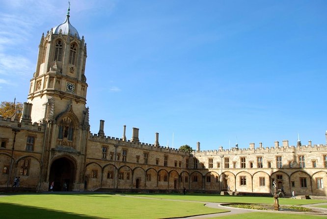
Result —
[{"label": "large dark arched gateway opening at the base of the tower", "polygon": [[[53,191],[63,191],[63,184],[66,182],[67,191],[73,189],[75,181],[75,164],[67,158],[59,158],[51,164],[49,182],[54,182]],[[50,186],[50,185],[49,185]]]}]

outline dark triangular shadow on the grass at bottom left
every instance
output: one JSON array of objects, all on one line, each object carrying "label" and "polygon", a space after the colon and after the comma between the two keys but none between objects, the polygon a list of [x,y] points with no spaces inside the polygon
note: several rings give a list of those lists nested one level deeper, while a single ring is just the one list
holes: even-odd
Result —
[{"label": "dark triangular shadow on the grass at bottom left", "polygon": [[86,215],[36,208],[25,205],[0,203],[0,219],[99,219]]}]

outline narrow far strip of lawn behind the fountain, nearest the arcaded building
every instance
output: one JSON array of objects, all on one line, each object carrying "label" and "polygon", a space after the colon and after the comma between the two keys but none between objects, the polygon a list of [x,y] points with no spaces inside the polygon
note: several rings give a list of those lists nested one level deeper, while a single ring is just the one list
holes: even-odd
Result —
[{"label": "narrow far strip of lawn behind the fountain, nearest the arcaded building", "polygon": [[[252,196],[230,196],[230,195],[218,195],[218,194],[198,194],[198,193],[187,193],[186,195],[181,194],[160,194],[160,193],[149,193],[149,194],[128,194],[143,197],[152,197],[160,199],[174,199],[174,200],[188,200],[188,201],[206,201],[206,202],[230,202],[230,203],[263,203],[273,204],[273,197],[252,197]],[[280,205],[305,205],[324,203],[327,200],[316,200],[316,199],[292,199],[292,198],[279,198]]]}]

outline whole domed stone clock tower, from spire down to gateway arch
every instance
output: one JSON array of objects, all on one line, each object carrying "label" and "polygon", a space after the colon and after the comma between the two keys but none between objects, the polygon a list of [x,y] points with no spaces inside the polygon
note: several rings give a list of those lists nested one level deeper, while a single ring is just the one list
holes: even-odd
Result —
[{"label": "whole domed stone clock tower, from spire down to gateway arch", "polygon": [[[40,189],[49,183],[68,184],[68,190],[81,191],[89,133],[84,75],[86,43],[65,21],[42,34],[36,71],[30,80],[28,103],[31,122],[46,125]],[[59,189],[59,188],[58,188]]]}]

